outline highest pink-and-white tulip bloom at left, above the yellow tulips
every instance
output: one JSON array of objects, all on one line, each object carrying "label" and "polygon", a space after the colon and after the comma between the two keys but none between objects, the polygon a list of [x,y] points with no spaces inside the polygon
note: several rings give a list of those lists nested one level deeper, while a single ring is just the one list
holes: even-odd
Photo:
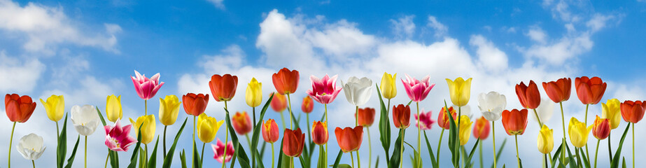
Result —
[{"label": "highest pink-and-white tulip bloom at left, above the yellow tulips", "polygon": [[142,76],[138,71],[134,71],[134,74],[136,78],[134,76],[130,76],[130,78],[132,78],[134,90],[136,90],[141,99],[148,100],[155,97],[157,90],[160,90],[160,87],[164,85],[164,82],[160,83],[160,73],[155,74],[153,78],[146,78],[145,75]]}]

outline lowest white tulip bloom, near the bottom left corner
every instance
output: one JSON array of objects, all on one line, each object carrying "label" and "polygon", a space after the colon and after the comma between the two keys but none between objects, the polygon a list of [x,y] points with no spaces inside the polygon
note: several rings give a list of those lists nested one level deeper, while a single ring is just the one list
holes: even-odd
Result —
[{"label": "lowest white tulip bloom, near the bottom left corner", "polygon": [[26,160],[37,160],[41,158],[41,155],[45,151],[43,137],[34,133],[25,135],[20,138],[20,142],[18,142],[15,149],[22,155],[22,158]]}]

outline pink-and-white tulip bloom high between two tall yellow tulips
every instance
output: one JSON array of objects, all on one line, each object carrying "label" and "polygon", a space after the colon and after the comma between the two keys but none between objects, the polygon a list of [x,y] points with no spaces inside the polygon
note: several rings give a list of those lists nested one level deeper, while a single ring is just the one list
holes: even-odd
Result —
[{"label": "pink-and-white tulip bloom high between two tall yellow tulips", "polygon": [[404,83],[404,88],[406,89],[406,94],[413,102],[421,102],[426,99],[430,89],[433,89],[435,83],[429,83],[430,77],[426,76],[421,81],[415,78],[411,78],[406,74],[406,80],[402,79]]}]

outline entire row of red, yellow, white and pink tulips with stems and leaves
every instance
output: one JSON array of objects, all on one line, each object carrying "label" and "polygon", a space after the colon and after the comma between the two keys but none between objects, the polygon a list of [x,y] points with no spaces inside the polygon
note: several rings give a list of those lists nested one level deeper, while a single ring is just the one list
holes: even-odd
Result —
[{"label": "entire row of red, yellow, white and pink tulips with stems and leaves", "polygon": [[[155,139],[155,123],[157,123],[157,121],[154,114],[148,115],[147,102],[148,99],[155,97],[157,90],[159,90],[164,83],[159,81],[159,73],[155,74],[152,78],[146,78],[146,76],[141,75],[137,71],[135,71],[135,74],[136,75],[131,76],[131,78],[136,93],[144,100],[144,115],[136,118],[136,120],[130,118],[129,120],[130,123],[132,123],[132,126],[122,126],[120,123],[120,120],[122,119],[120,96],[115,95],[107,97],[105,111],[106,118],[108,118],[109,122],[114,123],[113,125],[108,125],[108,123],[106,123],[104,116],[101,114],[98,107],[90,105],[73,106],[70,112],[71,121],[79,136],[75,146],[73,147],[73,151],[67,160],[64,160],[66,157],[67,134],[65,130],[67,117],[64,119],[62,131],[59,131],[58,128],[58,121],[63,118],[65,111],[64,97],[62,95],[52,95],[46,100],[46,102],[41,99],[41,103],[45,107],[48,118],[56,122],[58,135],[56,151],[57,167],[71,166],[76,155],[80,136],[85,138],[85,165],[87,167],[87,136],[94,133],[94,130],[99,126],[99,122],[104,125],[105,144],[108,148],[106,167],[108,165],[108,161],[112,167],[118,167],[118,152],[128,151],[129,146],[132,145],[135,145],[135,148],[132,156],[130,157],[129,167],[136,167],[137,164],[139,164],[139,167],[155,167],[157,145],[159,144],[160,137],[157,137],[157,141],[155,142],[153,151],[149,157],[148,144],[153,142]],[[210,144],[214,139],[216,139],[216,133],[222,125],[224,125],[226,132],[225,141],[223,142],[218,138],[216,144],[211,144],[211,148],[214,153],[213,158],[222,163],[222,167],[225,167],[227,162],[232,162],[232,164],[234,164],[236,159],[239,160],[238,164],[240,167],[265,167],[262,162],[262,156],[265,153],[266,143],[269,143],[272,148],[272,167],[274,167],[274,163],[278,163],[278,167],[295,167],[293,161],[295,158],[300,160],[302,167],[311,167],[311,160],[313,160],[312,156],[315,146],[319,146],[319,156],[316,167],[328,167],[328,165],[331,167],[355,167],[355,155],[358,161],[356,163],[356,167],[360,167],[360,155],[358,150],[363,143],[364,128],[367,133],[368,148],[370,150],[368,167],[372,167],[370,126],[374,123],[374,118],[377,112],[375,109],[370,107],[363,107],[367,103],[367,100],[372,96],[372,80],[369,78],[351,77],[346,83],[343,83],[342,81],[342,87],[338,87],[336,85],[337,76],[330,77],[325,75],[323,78],[310,76],[312,87],[311,90],[307,90],[306,93],[308,96],[304,97],[301,104],[301,110],[306,115],[307,137],[309,137],[309,139],[305,139],[306,133],[302,132],[300,129],[300,117],[299,119],[295,118],[290,99],[290,94],[294,94],[297,89],[299,79],[300,75],[296,70],[290,71],[289,69],[283,68],[277,73],[274,73],[272,76],[272,82],[276,88],[276,92],[269,94],[269,99],[267,99],[264,106],[262,106],[262,109],[259,111],[260,115],[256,115],[256,107],[262,104],[262,83],[258,82],[255,78],[252,78],[246,89],[245,101],[253,111],[253,120],[245,111],[237,112],[234,116],[230,117],[227,102],[232,101],[238,85],[237,76],[232,76],[230,74],[225,74],[223,76],[216,74],[213,75],[209,81],[211,97],[213,97],[216,102],[224,103],[223,112],[226,116],[224,120],[216,120],[216,118],[206,116],[206,113],[204,113],[206,106],[209,103],[209,94],[187,93],[183,95],[181,102],[175,95],[168,95],[164,97],[164,99],[160,98],[158,115],[160,123],[164,125],[164,132],[161,137],[163,146],[162,167],[170,167],[174,158],[173,155],[176,150],[175,148],[178,138],[181,136],[183,128],[188,120],[188,118],[184,120],[182,126],[176,133],[174,142],[169,150],[167,150],[166,130],[168,126],[176,123],[180,105],[183,105],[185,113],[192,116],[193,148],[191,152],[192,160],[190,160],[190,165],[192,165],[192,167],[202,167],[202,163],[204,162],[204,146],[206,144]],[[454,106],[448,106],[447,103],[444,102],[444,107],[440,110],[437,120],[433,120],[431,117],[431,111],[425,112],[419,110],[419,102],[426,99],[430,90],[435,86],[435,83],[430,83],[429,76],[418,80],[406,75],[405,78],[401,79],[401,82],[405,87],[405,91],[410,102],[407,104],[397,104],[392,106],[392,108],[391,99],[397,95],[397,88],[395,87],[396,74],[391,75],[384,73],[383,78],[381,78],[381,84],[375,84],[380,102],[379,115],[381,117],[378,124],[380,135],[379,140],[381,141],[381,146],[384,148],[384,153],[386,154],[387,167],[403,166],[404,159],[402,158],[405,151],[404,144],[407,144],[413,149],[411,156],[412,166],[424,167],[422,162],[423,159],[421,158],[421,137],[424,137],[424,140],[426,141],[431,166],[440,167],[440,147],[442,147],[442,138],[444,137],[445,130],[449,131],[447,147],[451,152],[451,165],[454,167],[473,167],[474,164],[471,162],[472,156],[474,155],[475,148],[479,146],[481,155],[480,165],[482,167],[482,146],[484,144],[480,144],[480,141],[489,137],[490,129],[493,131],[493,154],[496,156],[493,159],[493,167],[497,167],[500,151],[503,150],[505,144],[505,142],[503,142],[503,146],[500,146],[498,151],[496,151],[496,130],[494,125],[498,120],[501,120],[500,122],[505,128],[505,132],[510,136],[514,136],[514,139],[516,139],[517,165],[518,167],[522,167],[517,139],[519,135],[523,135],[524,132],[526,132],[528,115],[535,115],[538,119],[538,125],[541,128],[536,136],[538,136],[538,151],[545,155],[545,158],[543,159],[545,161],[545,167],[550,165],[552,167],[566,167],[566,165],[570,165],[570,167],[591,167],[591,161],[593,158],[590,157],[587,147],[590,132],[592,132],[594,137],[598,139],[594,155],[594,167],[596,167],[598,161],[598,158],[596,157],[596,153],[598,153],[598,145],[603,139],[608,139],[608,152],[610,153],[611,167],[619,167],[619,160],[622,159],[622,146],[629,127],[631,127],[630,123],[633,125],[633,167],[635,167],[634,124],[638,123],[643,118],[646,111],[646,104],[643,104],[643,102],[640,101],[633,102],[630,100],[621,103],[618,99],[609,99],[608,102],[602,103],[602,116],[596,116],[594,123],[588,125],[587,111],[589,106],[591,104],[598,104],[598,102],[601,102],[601,97],[603,97],[607,86],[601,78],[588,78],[586,76],[575,78],[575,91],[582,104],[585,104],[586,106],[586,114],[583,122],[577,118],[570,118],[568,134],[566,134],[563,102],[570,99],[572,80],[570,78],[561,78],[556,81],[542,83],[542,87],[547,93],[549,99],[552,99],[553,102],[559,103],[561,106],[563,137],[561,139],[561,145],[556,149],[556,151],[554,151],[553,130],[549,129],[547,125],[544,125],[541,122],[540,117],[538,117],[539,114],[536,109],[540,105],[540,90],[533,80],[530,80],[528,85],[524,82],[516,85],[515,89],[522,106],[521,109],[507,110],[507,99],[505,95],[499,94],[498,92],[479,94],[478,106],[480,111],[482,111],[482,117],[477,118],[477,120],[475,120],[475,124],[471,121],[469,116],[463,115],[462,111],[462,107],[466,106],[470,101],[472,78],[468,78],[467,80],[464,80],[463,78],[456,78],[455,80],[447,79],[451,103]],[[347,101],[355,106],[354,110],[356,113],[354,113],[354,116],[356,121],[353,127],[335,128],[335,136],[340,151],[335,161],[331,163],[328,162],[328,104],[334,102],[335,98],[342,90],[344,91]],[[384,99],[381,99],[381,97],[386,98],[387,103],[384,102]],[[321,120],[314,120],[310,127],[309,114],[314,109],[314,101],[324,105],[325,113],[321,116]],[[415,102],[416,106],[416,113],[414,113],[413,116],[414,120],[416,120],[416,127],[418,127],[416,148],[408,142],[403,141],[406,130],[411,124],[410,116],[412,112],[410,104],[412,104],[412,102]],[[271,106],[274,111],[281,114],[282,125],[284,128],[282,139],[279,136],[279,127],[276,124],[276,121],[273,119],[264,120],[265,112],[269,106]],[[13,144],[13,130],[15,130],[15,124],[27,122],[34,109],[36,109],[36,103],[33,102],[29,96],[21,97],[18,94],[6,94],[5,108],[8,118],[13,122],[10,147],[8,151],[8,167],[10,167],[10,153],[11,146]],[[391,144],[391,120],[388,118],[388,116],[390,116],[389,113],[391,112],[391,109],[393,125],[399,129],[397,139],[395,139],[394,144]],[[531,109],[533,114],[530,114],[531,112],[529,112],[528,109]],[[283,115],[283,111],[285,110],[288,110],[289,112],[289,127],[287,127],[286,119]],[[258,116],[259,120],[256,120],[256,116]],[[629,125],[626,126],[626,130],[624,130],[619,146],[616,148],[615,155],[613,156],[612,148],[610,148],[610,131],[619,127],[619,123],[621,123],[620,116],[628,122]],[[439,144],[437,144],[437,153],[433,152],[433,148],[426,135],[426,130],[430,130],[435,123],[442,128],[439,136]],[[136,137],[131,137],[129,134],[130,130],[133,128]],[[234,132],[237,134],[234,134]],[[251,139],[249,134],[251,134]],[[261,149],[258,150],[258,141],[261,134],[265,143],[262,144]],[[471,134],[477,138],[477,141],[471,150],[467,151],[465,144],[469,141]],[[244,135],[246,137],[248,142],[247,147],[249,148],[248,151],[245,151],[243,146],[239,144],[237,135]],[[198,151],[198,144],[195,141],[195,137],[202,141],[201,152]],[[231,141],[229,141],[230,137]],[[566,137],[569,137],[570,143],[575,147],[574,155],[573,152],[570,151],[570,146],[567,144]],[[281,150],[279,152],[278,162],[275,162],[274,143],[277,141],[281,141]],[[143,147],[141,144],[143,144]],[[392,152],[390,151],[391,147],[393,147]],[[19,151],[27,160],[31,160],[34,167],[34,160],[38,159],[44,150],[45,146],[43,146],[43,138],[36,134],[28,134],[22,137],[17,145],[17,151]],[[553,151],[554,156],[552,156]],[[251,155],[251,158],[248,157],[247,153]],[[351,165],[339,163],[343,153],[349,153],[351,155]],[[182,150],[180,152],[180,159],[183,167],[186,167],[187,165],[185,158],[186,153]],[[64,165],[65,161],[67,161],[66,165]],[[379,161],[377,159],[375,164],[377,165],[378,162]],[[625,161],[622,163],[622,165],[626,165]]]}]

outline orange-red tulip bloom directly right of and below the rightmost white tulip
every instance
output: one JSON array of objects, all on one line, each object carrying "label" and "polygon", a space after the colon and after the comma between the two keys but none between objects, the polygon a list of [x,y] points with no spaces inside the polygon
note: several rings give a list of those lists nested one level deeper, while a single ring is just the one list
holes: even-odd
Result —
[{"label": "orange-red tulip bloom directly right of and below the rightmost white tulip", "polygon": [[527,127],[527,109],[503,111],[503,127],[509,135],[521,135]]}]

